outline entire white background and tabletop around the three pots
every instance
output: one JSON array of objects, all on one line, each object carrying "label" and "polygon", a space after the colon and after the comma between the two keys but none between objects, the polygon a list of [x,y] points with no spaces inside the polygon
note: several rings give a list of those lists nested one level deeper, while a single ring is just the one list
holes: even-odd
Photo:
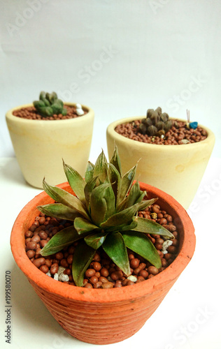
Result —
[{"label": "entire white background and tabletop around the three pots", "polygon": [[[0,0],[0,6],[1,268],[13,274],[10,348],[95,347],[62,335],[10,254],[13,221],[40,191],[22,178],[4,115],[45,90],[94,109],[91,161],[101,148],[106,152],[110,122],[145,115],[148,108],[161,106],[180,118],[189,109],[191,121],[213,130],[215,148],[189,210],[197,235],[194,259],[145,327],[110,348],[220,349],[215,281],[220,275],[220,228],[210,219],[220,216],[220,1]],[[3,309],[4,288],[0,341],[1,348],[8,348]],[[205,309],[209,315],[199,324]],[[182,326],[189,333],[183,341]]]}]

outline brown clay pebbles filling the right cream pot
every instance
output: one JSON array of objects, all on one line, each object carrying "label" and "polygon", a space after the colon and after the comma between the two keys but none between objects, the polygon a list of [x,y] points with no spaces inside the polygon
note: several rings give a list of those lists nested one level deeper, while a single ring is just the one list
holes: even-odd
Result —
[{"label": "brown clay pebbles filling the right cream pot", "polygon": [[[136,140],[138,142],[148,144],[161,144],[161,145],[182,145],[191,144],[195,142],[201,142],[207,138],[207,132],[204,128],[197,126],[197,128],[188,128],[184,121],[172,120],[173,126],[167,131],[164,137],[143,135],[139,126],[141,125],[141,119],[126,124],[120,124],[115,127],[115,131],[120,135]],[[175,126],[176,121],[176,126]],[[191,126],[191,124],[190,124]]]}]

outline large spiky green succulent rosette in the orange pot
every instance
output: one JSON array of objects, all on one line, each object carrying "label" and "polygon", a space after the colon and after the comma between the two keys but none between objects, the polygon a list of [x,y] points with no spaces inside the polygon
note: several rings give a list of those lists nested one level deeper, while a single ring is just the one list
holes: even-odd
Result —
[{"label": "large spiky green succulent rosette in the orange pot", "polygon": [[127,248],[155,267],[161,267],[159,254],[146,234],[162,235],[165,239],[174,237],[162,225],[138,217],[138,211],[157,199],[145,200],[147,193],[141,191],[138,181],[133,184],[136,165],[122,176],[117,147],[110,163],[104,151],[95,165],[89,161],[85,179],[64,161],[63,165],[76,196],[50,186],[44,179],[43,188],[55,203],[38,209],[47,216],[73,221],[73,225],[57,232],[43,247],[41,255],[52,255],[78,241],[72,265],[73,280],[78,286],[83,285],[85,271],[98,248],[103,248],[127,276],[131,274]]}]

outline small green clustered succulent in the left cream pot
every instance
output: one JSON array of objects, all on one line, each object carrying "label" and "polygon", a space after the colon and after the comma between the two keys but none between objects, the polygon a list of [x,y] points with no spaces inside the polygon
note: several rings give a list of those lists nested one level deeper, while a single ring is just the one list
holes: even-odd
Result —
[{"label": "small green clustered succulent in the left cream pot", "polygon": [[39,101],[34,101],[33,104],[42,117],[52,117],[54,114],[66,115],[67,113],[64,108],[64,103],[61,99],[57,98],[55,92],[48,94],[48,92],[45,93],[44,91],[41,91]]}]

